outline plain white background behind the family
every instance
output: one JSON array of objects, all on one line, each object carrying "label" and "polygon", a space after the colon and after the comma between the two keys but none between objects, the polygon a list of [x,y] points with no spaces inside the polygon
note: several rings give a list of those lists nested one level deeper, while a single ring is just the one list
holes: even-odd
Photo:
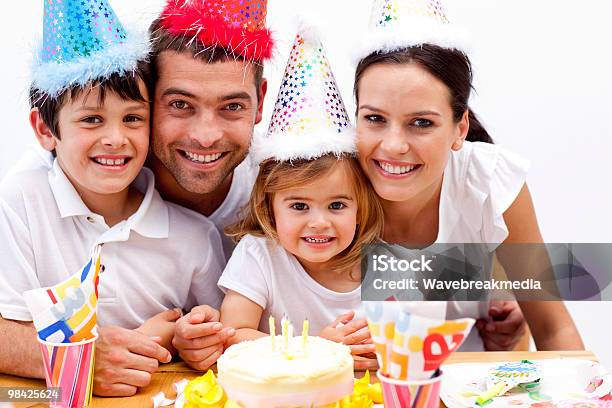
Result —
[{"label": "plain white background behind the family", "polygon": [[[162,0],[111,0],[145,28]],[[269,0],[281,47],[267,67],[264,124],[278,90],[297,14],[325,45],[349,112],[350,40],[369,20],[369,0]],[[0,177],[34,138],[27,123],[29,61],[42,35],[41,0],[3,3],[0,38]],[[606,0],[449,0],[449,18],[472,37],[471,105],[495,141],[532,161],[528,183],[547,242],[612,242],[612,3]],[[612,273],[612,271],[607,271]],[[612,368],[611,303],[569,303],[588,349]]]}]

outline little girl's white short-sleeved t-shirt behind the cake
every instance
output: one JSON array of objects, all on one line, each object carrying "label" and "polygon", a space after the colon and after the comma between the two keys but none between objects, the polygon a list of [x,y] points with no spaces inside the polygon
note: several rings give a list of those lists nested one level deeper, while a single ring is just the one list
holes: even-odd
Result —
[{"label": "little girl's white short-sleeved t-shirt behind the cake", "polygon": [[259,330],[268,333],[268,318],[274,316],[276,330],[288,316],[297,330],[304,319],[310,332],[318,334],[339,315],[361,309],[361,291],[334,292],[312,279],[302,265],[281,245],[247,235],[236,246],[219,279],[224,292],[231,289],[264,309]]}]

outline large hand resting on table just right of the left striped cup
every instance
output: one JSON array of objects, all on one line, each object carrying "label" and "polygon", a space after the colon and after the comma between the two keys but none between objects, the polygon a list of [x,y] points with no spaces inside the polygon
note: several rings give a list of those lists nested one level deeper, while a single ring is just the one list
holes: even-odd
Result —
[{"label": "large hand resting on table just right of the left striped cup", "polygon": [[105,397],[136,394],[151,382],[159,363],[172,356],[156,340],[136,330],[108,326],[98,330],[94,393]]}]

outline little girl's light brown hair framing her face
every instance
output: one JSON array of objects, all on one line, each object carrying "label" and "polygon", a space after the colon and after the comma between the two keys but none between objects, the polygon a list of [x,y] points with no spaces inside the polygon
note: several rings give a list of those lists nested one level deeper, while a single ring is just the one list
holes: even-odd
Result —
[{"label": "little girl's light brown hair framing her face", "polygon": [[278,242],[272,201],[274,194],[311,183],[314,179],[325,177],[337,166],[343,166],[353,188],[357,204],[357,229],[351,244],[336,255],[332,269],[343,270],[353,267],[360,259],[361,247],[374,243],[382,233],[383,209],[370,181],[353,156],[326,155],[316,160],[296,160],[279,162],[273,159],[259,166],[251,200],[246,208],[245,217],[228,227],[226,233],[239,241],[247,234],[267,237]]}]

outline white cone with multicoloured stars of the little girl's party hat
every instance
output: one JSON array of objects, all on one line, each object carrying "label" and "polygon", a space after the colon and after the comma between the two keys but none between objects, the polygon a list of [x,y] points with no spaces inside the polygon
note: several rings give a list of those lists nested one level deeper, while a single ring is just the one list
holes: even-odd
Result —
[{"label": "white cone with multicoloured stars of the little girl's party hat", "polygon": [[350,126],[329,61],[320,43],[298,34],[291,49],[274,113],[268,129],[273,133],[311,133]]}]

